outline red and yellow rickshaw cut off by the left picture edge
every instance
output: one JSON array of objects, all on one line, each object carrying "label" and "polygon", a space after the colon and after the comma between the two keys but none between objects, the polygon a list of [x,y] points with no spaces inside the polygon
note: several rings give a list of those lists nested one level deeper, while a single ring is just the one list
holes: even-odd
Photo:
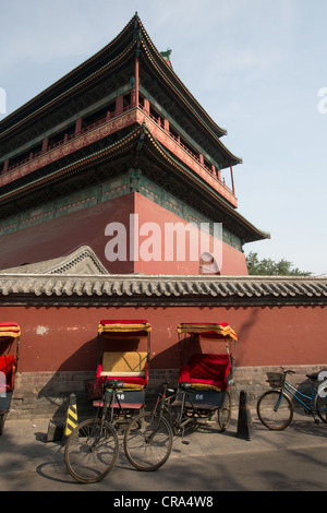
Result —
[{"label": "red and yellow rickshaw cut off by the left picture edge", "polygon": [[[14,391],[20,337],[21,327],[16,322],[0,322],[0,434],[3,432]],[[13,351],[14,345],[15,351]]]}]

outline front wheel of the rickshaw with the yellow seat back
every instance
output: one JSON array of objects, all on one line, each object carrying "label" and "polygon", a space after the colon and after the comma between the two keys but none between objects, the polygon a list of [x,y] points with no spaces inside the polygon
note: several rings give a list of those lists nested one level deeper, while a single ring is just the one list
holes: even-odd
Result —
[{"label": "front wheel of the rickshaw with the yellow seat back", "polygon": [[66,439],[64,463],[80,482],[96,482],[112,469],[119,450],[113,427],[100,419],[81,422]]}]

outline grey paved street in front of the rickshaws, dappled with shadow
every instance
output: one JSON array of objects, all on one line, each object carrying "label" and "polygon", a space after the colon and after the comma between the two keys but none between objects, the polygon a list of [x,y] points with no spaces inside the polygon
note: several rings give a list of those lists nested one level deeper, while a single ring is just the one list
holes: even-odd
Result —
[{"label": "grey paved street in front of the rickshaws, dappled with shadow", "polygon": [[327,425],[315,425],[311,417],[295,415],[289,428],[272,432],[255,415],[252,421],[251,440],[238,437],[238,419],[232,419],[225,433],[219,432],[216,422],[203,426],[185,437],[187,445],[175,438],[169,461],[155,473],[131,468],[121,449],[116,467],[101,482],[81,485],[65,468],[62,443],[47,442],[49,419],[8,419],[0,437],[0,490],[134,494],[167,494],[173,490],[326,490]]}]

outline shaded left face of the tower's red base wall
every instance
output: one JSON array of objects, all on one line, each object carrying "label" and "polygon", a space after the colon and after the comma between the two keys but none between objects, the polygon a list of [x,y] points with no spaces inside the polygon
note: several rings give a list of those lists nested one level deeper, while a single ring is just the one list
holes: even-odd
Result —
[{"label": "shaded left face of the tower's red base wall", "polygon": [[56,259],[71,253],[80,246],[88,244],[110,273],[131,273],[133,264],[130,262],[106,260],[105,247],[109,238],[105,236],[105,229],[111,222],[128,226],[133,212],[134,195],[131,193],[123,196],[123,200],[114,198],[99,205],[3,235],[0,269]]}]

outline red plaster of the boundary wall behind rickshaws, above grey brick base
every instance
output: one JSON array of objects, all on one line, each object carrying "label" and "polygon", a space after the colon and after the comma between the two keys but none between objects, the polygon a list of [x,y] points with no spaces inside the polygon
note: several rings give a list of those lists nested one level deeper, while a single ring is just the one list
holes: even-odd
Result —
[{"label": "red plaster of the boundary wall behind rickshaws, above grey brick base", "polygon": [[1,307],[22,327],[21,372],[95,370],[100,319],[147,319],[152,367],[179,368],[180,322],[229,322],[239,335],[237,367],[326,365],[326,307],[46,308]]}]

